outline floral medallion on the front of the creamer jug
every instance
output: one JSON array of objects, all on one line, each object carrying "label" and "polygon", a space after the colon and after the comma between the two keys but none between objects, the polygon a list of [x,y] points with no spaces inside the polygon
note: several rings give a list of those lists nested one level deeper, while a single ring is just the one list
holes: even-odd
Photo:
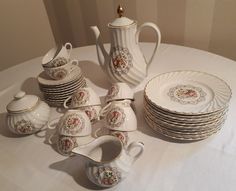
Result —
[{"label": "floral medallion on the front of the creamer jug", "polygon": [[101,186],[114,186],[121,180],[121,172],[116,167],[111,166],[97,167],[94,176]]}]

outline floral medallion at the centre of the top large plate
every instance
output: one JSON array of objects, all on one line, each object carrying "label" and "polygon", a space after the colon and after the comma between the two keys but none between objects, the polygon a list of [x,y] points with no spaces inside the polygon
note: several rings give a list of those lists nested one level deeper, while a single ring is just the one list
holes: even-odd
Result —
[{"label": "floral medallion at the centre of the top large plate", "polygon": [[172,101],[180,104],[198,104],[205,100],[206,93],[200,88],[193,85],[177,85],[169,89],[167,95]]}]

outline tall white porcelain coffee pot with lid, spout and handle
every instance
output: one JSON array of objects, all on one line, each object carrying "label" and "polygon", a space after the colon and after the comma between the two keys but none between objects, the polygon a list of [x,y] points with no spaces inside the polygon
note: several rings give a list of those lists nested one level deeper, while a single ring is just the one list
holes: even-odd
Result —
[{"label": "tall white porcelain coffee pot with lid, spout and handle", "polygon": [[[147,75],[147,67],[152,62],[161,42],[159,28],[146,22],[137,28],[137,22],[123,17],[123,8],[118,7],[119,18],[108,24],[111,47],[108,53],[102,43],[100,31],[92,26],[95,37],[99,63],[112,82],[126,82],[131,86],[138,85]],[[140,50],[139,34],[144,27],[156,32],[157,40],[152,56],[146,61]]]}]

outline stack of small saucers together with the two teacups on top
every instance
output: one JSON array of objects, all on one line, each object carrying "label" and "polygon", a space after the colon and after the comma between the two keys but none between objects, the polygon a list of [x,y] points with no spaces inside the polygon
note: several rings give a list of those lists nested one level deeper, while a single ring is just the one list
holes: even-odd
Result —
[{"label": "stack of small saucers together with the two teacups on top", "polygon": [[72,93],[86,86],[78,60],[71,60],[71,43],[52,48],[43,57],[44,71],[38,76],[39,88],[44,99],[52,106],[61,106]]}]

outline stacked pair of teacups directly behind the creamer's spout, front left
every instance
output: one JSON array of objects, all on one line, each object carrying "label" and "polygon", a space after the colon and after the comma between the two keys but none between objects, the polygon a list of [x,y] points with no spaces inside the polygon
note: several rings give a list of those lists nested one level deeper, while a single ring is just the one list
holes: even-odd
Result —
[{"label": "stacked pair of teacups directly behind the creamer's spout, front left", "polygon": [[[50,129],[53,128],[51,125],[53,121],[48,125]],[[91,122],[88,116],[80,110],[68,110],[65,112],[59,119],[56,129],[57,149],[60,154],[65,156],[71,155],[71,151],[75,147],[93,140],[91,137]]]}]

